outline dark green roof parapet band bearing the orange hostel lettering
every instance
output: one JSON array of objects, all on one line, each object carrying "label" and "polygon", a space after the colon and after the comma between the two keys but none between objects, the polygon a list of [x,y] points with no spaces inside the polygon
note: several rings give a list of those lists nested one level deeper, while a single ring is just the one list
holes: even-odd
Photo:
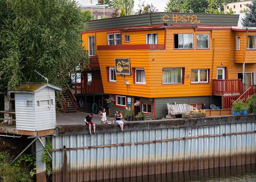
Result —
[{"label": "dark green roof parapet band bearing the orange hostel lettering", "polygon": [[163,25],[237,26],[239,15],[157,12],[87,21],[88,30]]}]

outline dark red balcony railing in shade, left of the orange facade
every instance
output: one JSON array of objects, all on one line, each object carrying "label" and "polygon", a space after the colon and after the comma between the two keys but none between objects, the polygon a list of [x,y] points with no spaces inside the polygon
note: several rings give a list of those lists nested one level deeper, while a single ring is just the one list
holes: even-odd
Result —
[{"label": "dark red balcony railing in shade, left of the orange facade", "polygon": [[91,82],[82,82],[73,84],[74,94],[85,94],[94,92],[103,92],[102,80],[93,80]]}]

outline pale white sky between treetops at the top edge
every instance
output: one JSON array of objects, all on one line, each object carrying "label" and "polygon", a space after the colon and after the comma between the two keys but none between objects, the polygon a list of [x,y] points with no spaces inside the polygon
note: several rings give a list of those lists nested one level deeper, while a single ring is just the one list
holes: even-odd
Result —
[{"label": "pale white sky between treetops at the top edge", "polygon": [[[91,5],[90,0],[77,0],[79,4],[81,4],[82,6],[88,6]],[[93,1],[93,5],[97,4],[97,0],[92,0]],[[141,2],[145,1],[145,4],[153,4],[159,12],[164,12],[163,10],[165,9],[166,3],[169,0],[141,0]],[[139,4],[140,0],[134,0],[134,7],[133,7],[133,11],[136,11],[136,9],[138,8],[138,4]],[[159,3],[161,2],[161,3]]]}]

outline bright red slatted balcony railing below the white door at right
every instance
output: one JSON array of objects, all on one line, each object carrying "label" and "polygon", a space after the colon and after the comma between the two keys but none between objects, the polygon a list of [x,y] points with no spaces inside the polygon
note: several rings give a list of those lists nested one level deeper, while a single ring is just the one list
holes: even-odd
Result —
[{"label": "bright red slatted balcony railing below the white door at right", "polygon": [[243,83],[241,79],[234,80],[212,80],[213,94],[242,94]]}]

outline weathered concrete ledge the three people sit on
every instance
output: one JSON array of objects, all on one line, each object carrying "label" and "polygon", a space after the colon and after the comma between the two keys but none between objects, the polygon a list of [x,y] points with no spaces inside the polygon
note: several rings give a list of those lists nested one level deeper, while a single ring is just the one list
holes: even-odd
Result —
[{"label": "weathered concrete ledge the three people sit on", "polygon": [[[144,120],[124,122],[124,131],[155,130],[162,128],[193,128],[211,127],[221,124],[251,123],[256,122],[256,115],[229,115],[229,116],[208,116],[204,118],[177,118],[161,120]],[[91,127],[93,131],[93,127]],[[96,124],[96,133],[121,132],[118,124]],[[54,135],[80,135],[89,134],[88,126],[68,125],[57,126]]]}]

